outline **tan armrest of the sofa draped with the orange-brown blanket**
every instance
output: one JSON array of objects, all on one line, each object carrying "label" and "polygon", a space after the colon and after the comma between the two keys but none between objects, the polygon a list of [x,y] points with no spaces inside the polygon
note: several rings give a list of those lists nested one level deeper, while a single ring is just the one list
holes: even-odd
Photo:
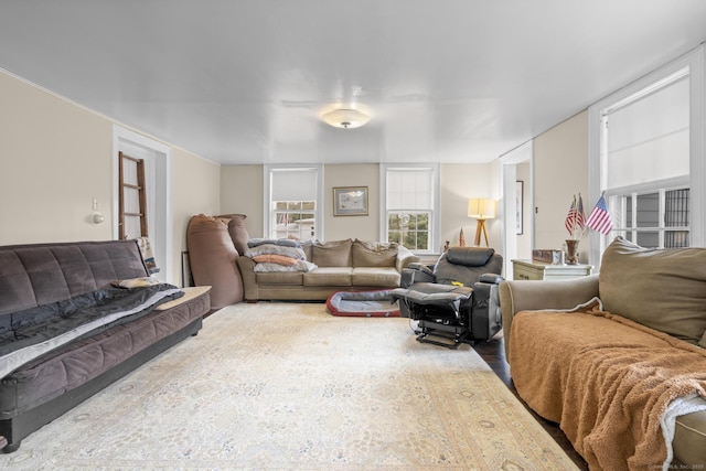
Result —
[{"label": "tan armrest of the sofa draped with the orange-brown blanket", "polygon": [[510,329],[517,312],[539,309],[571,309],[598,297],[598,275],[569,280],[506,280],[500,283],[500,309],[505,333],[505,357]]}]

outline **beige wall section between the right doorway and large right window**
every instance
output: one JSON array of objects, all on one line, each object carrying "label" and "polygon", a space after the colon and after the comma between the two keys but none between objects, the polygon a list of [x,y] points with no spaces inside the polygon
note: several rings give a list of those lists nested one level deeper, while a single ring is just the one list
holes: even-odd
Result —
[{"label": "beige wall section between the right doorway and large right window", "polygon": [[[588,194],[588,111],[567,119],[537,136],[533,143],[535,248],[563,248],[564,227],[575,194],[581,193],[584,210],[592,207]],[[580,243],[580,261],[587,261],[588,237]]]}]

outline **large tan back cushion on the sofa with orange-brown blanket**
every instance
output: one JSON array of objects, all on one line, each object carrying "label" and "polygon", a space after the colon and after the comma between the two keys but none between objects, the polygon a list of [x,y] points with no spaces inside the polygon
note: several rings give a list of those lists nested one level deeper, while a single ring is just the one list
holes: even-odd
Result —
[{"label": "large tan back cushion on the sofa with orange-brown blanket", "polygon": [[706,332],[706,249],[649,249],[617,237],[603,253],[607,311],[698,344]]}]

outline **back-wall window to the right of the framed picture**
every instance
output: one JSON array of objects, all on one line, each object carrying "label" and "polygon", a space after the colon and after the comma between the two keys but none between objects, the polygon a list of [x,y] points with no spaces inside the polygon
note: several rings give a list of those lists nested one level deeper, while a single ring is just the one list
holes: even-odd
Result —
[{"label": "back-wall window to the right of the framed picture", "polygon": [[438,171],[435,165],[383,167],[383,239],[416,253],[436,246]]}]

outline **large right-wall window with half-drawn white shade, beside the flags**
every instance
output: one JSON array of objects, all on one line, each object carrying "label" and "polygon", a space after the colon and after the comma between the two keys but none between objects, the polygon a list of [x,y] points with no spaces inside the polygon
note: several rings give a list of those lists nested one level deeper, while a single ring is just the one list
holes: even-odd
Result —
[{"label": "large right-wall window with half-drawn white shade, beside the flags", "polygon": [[[602,121],[614,235],[643,247],[688,246],[688,68],[606,109]],[[677,182],[684,186],[670,189]]]}]

